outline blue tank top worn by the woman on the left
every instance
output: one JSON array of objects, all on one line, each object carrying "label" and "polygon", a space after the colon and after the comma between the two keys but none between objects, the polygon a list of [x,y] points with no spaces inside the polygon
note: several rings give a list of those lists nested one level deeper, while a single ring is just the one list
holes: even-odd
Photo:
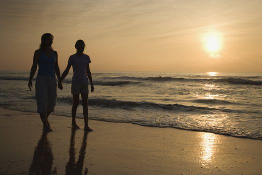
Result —
[{"label": "blue tank top worn by the woman on the left", "polygon": [[54,51],[52,51],[50,57],[46,55],[43,50],[40,50],[40,55],[38,58],[38,73],[39,76],[55,76],[54,63],[56,57]]}]

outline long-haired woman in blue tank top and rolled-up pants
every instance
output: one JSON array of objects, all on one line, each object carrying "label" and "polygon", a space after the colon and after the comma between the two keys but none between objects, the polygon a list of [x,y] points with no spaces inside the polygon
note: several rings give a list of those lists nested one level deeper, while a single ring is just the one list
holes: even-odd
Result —
[{"label": "long-haired woman in blue tank top and rolled-up pants", "polygon": [[56,79],[58,79],[58,88],[62,89],[60,70],[58,66],[57,52],[51,47],[53,35],[44,33],[41,36],[39,49],[35,50],[33,55],[33,64],[30,71],[28,87],[31,90],[32,78],[35,74],[38,64],[38,73],[35,79],[35,96],[37,101],[37,113],[43,122],[43,130],[52,131],[47,117],[54,111],[56,103]]}]

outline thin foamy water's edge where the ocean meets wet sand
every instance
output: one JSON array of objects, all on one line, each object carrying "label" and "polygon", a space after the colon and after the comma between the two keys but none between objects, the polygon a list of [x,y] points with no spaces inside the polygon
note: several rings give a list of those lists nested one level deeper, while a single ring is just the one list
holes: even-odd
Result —
[{"label": "thin foamy water's edge where the ocean meets wet sand", "polygon": [[[8,109],[4,107],[0,107],[2,109],[7,109],[7,110],[17,110],[21,112],[31,112],[31,111],[22,111],[19,109]],[[36,113],[36,112],[31,112],[31,113]],[[69,115],[59,115],[59,114],[53,114],[55,116],[62,116],[62,117],[71,117]],[[83,117],[76,116],[76,118],[83,119]],[[195,131],[195,132],[208,132],[208,133],[214,133],[214,134],[219,134],[219,135],[225,135],[225,136],[232,136],[236,138],[244,138],[244,139],[255,139],[255,140],[262,140],[262,138],[257,138],[257,137],[251,137],[251,136],[242,136],[242,135],[231,135],[229,133],[220,133],[216,131],[210,131],[210,130],[204,130],[204,129],[187,129],[183,127],[171,127],[171,126],[156,126],[156,125],[150,125],[150,124],[140,124],[140,123],[134,123],[134,122],[125,122],[125,121],[110,121],[110,120],[103,120],[103,119],[88,119],[88,120],[94,120],[94,121],[102,121],[102,122],[112,122],[112,123],[129,123],[129,124],[135,124],[139,126],[145,126],[145,127],[158,127],[158,128],[174,128],[174,129],[180,129],[180,130],[188,130],[188,131]]]}]

